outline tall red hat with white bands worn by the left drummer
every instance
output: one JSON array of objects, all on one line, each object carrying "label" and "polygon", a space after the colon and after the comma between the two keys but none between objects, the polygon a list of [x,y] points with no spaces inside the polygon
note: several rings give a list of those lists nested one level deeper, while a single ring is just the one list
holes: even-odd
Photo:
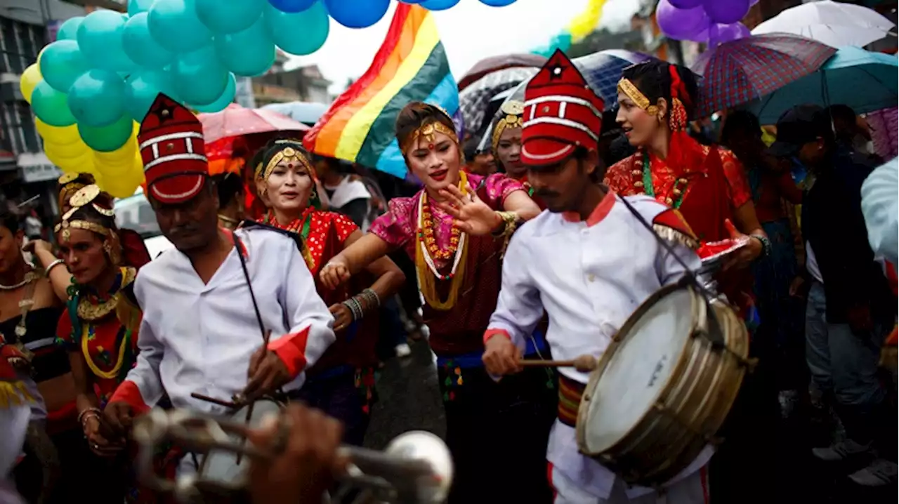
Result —
[{"label": "tall red hat with white bands worn by the left drummer", "polygon": [[200,192],[209,165],[203,127],[191,111],[159,94],[140,124],[138,145],[156,199],[180,203]]}]

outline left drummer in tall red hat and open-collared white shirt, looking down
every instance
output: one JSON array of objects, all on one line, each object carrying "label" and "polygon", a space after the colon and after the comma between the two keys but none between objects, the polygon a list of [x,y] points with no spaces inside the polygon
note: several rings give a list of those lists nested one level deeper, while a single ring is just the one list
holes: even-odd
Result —
[{"label": "left drummer in tall red hat and open-collared white shirt, looking down", "polygon": [[[251,400],[300,374],[334,342],[334,317],[297,243],[263,226],[218,227],[218,194],[209,181],[200,121],[160,94],[143,120],[138,143],[147,199],[174,251],[140,270],[134,293],[144,311],[134,367],[104,411],[113,429],[164,393],[175,408],[220,413],[191,397]],[[263,332],[271,332],[263,347]],[[191,471],[185,457],[179,472]],[[187,464],[191,462],[191,464]]]}]

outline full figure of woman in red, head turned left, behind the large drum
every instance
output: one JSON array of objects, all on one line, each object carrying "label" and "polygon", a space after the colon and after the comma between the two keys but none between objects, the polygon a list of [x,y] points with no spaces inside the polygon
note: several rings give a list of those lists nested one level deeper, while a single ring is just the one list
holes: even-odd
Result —
[{"label": "full figure of woman in red, head turned left, behind the large drum", "polygon": [[[743,166],[734,153],[703,146],[690,137],[688,121],[699,96],[695,76],[683,66],[648,61],[628,66],[619,81],[617,121],[635,155],[610,167],[605,183],[622,196],[646,194],[681,212],[702,242],[748,239],[725,261],[718,289],[736,305],[747,326],[758,325],[748,268],[771,245],[755,213]],[[753,357],[767,353],[753,340]],[[770,498],[773,473],[770,443],[779,417],[777,390],[771,380],[770,358],[743,382],[743,390],[721,434],[710,466],[712,495],[728,504]],[[758,472],[758,473],[756,473]],[[746,487],[742,482],[752,481]],[[747,491],[746,488],[750,490]]]}]

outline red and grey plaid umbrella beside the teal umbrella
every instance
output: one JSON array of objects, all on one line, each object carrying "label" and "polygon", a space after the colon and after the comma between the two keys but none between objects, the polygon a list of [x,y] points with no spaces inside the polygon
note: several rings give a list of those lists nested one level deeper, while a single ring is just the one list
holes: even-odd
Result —
[{"label": "red and grey plaid umbrella beside the teal umbrella", "polygon": [[835,53],[821,42],[788,33],[725,42],[700,55],[692,66],[703,76],[699,117],[773,93],[816,71]]}]

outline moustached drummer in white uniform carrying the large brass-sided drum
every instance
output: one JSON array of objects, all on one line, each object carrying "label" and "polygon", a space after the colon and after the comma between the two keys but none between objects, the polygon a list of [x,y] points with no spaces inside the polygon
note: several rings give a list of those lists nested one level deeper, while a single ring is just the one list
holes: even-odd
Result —
[{"label": "moustached drummer in white uniform carrying the large brass-sided drum", "polygon": [[[700,266],[697,240],[677,210],[645,196],[621,198],[597,182],[603,102],[565,54],[549,58],[525,101],[521,159],[548,211],[521,227],[505,255],[502,292],[484,335],[484,362],[496,376],[521,370],[524,338],[544,309],[553,358],[599,358],[641,302],[681,279],[684,266]],[[547,448],[556,504],[708,502],[708,447],[663,490],[628,488],[581,455],[575,421],[588,376],[571,367],[560,372],[558,419]]]}]

